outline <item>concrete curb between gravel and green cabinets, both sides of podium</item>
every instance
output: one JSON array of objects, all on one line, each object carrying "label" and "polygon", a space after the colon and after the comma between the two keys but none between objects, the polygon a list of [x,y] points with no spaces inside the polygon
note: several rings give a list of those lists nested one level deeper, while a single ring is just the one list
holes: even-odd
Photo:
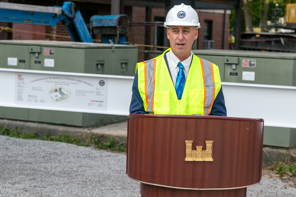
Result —
[{"label": "concrete curb between gravel and green cabinets, both sides of podium", "polygon": [[[4,128],[7,126],[9,129],[16,127],[26,133],[37,132],[37,136],[45,136],[50,133],[51,135],[61,135],[68,133],[69,136],[77,137],[81,140],[86,140],[89,134],[101,139],[107,140],[110,137],[118,139],[120,142],[127,141],[127,122],[114,123],[106,126],[79,128],[71,126],[54,125],[48,123],[36,123],[26,121],[15,121],[0,119],[0,126]],[[246,147],[247,148],[247,147]],[[284,161],[285,159],[292,159],[291,154],[296,154],[296,150],[289,150],[277,148],[263,148],[263,161],[262,166],[268,167],[275,162]]]}]

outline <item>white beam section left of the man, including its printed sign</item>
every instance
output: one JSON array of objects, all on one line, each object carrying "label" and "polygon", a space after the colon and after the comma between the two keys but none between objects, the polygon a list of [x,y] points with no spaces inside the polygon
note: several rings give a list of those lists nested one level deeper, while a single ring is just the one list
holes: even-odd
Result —
[{"label": "white beam section left of the man, including its printed sign", "polygon": [[0,68],[0,106],[128,115],[132,76]]}]

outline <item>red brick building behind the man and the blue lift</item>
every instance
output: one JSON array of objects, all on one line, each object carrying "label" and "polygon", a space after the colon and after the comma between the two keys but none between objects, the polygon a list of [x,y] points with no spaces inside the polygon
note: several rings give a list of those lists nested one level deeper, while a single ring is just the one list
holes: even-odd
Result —
[{"label": "red brick building behind the man and the blue lift", "polygon": [[[40,6],[62,6],[62,0],[0,0],[2,2],[11,2],[19,4],[31,4]],[[112,13],[111,1],[116,0],[73,0],[76,6],[81,11],[84,21],[89,27],[89,21],[93,15],[110,15]],[[144,53],[142,51],[151,51],[153,47],[147,45],[162,46],[157,48],[159,54],[161,51],[168,48],[169,43],[166,37],[166,28],[162,25],[157,26],[157,39],[155,39],[154,25],[145,26],[142,23],[165,21],[165,5],[158,3],[160,1],[151,1],[152,3],[145,3],[144,1],[124,1],[124,6],[121,7],[121,13],[129,17],[130,27],[128,34],[128,41],[130,43],[139,45],[139,61],[144,61],[147,58],[152,58],[155,53]],[[153,3],[154,2],[154,3]],[[210,9],[196,9],[201,28],[199,29],[199,36],[194,43],[194,49],[214,48],[214,49],[228,49],[229,36],[229,14],[226,10],[210,10]],[[137,23],[137,24],[135,24]],[[141,24],[139,24],[141,23]],[[0,39],[17,39],[17,40],[59,40],[71,41],[70,35],[65,25],[61,22],[57,26],[43,26],[43,25],[27,25],[17,23],[0,22],[2,27],[11,27],[12,33],[3,30],[0,32]],[[1,30],[1,29],[0,29]],[[64,37],[62,37],[64,36]],[[100,40],[100,35],[95,36],[96,40]],[[204,42],[204,40],[210,40]],[[207,47],[205,46],[208,45]]]}]

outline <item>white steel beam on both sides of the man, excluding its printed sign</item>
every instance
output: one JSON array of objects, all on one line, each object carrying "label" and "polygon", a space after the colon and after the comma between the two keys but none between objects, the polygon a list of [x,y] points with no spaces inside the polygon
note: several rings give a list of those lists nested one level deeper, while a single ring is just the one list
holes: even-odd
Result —
[{"label": "white steel beam on both sides of the man, excluding its printed sign", "polygon": [[[83,104],[83,101],[77,101],[77,105],[67,105],[67,107],[64,105],[35,105],[34,103],[29,105],[28,102],[23,105],[17,104],[20,103],[17,102],[17,94],[19,94],[17,92],[17,74],[19,73],[36,75],[35,78],[44,75],[69,76],[68,78],[81,77],[82,80],[87,81],[89,79],[90,82],[96,78],[106,79],[107,97],[105,102],[107,102],[107,105],[103,108],[104,110],[97,110],[79,105],[79,103]],[[31,76],[31,78],[34,77]],[[133,77],[0,68],[0,84],[0,106],[3,107],[128,115]],[[263,118],[265,126],[296,128],[296,87],[229,82],[222,82],[222,87],[227,116]],[[72,94],[74,94],[75,88],[72,88]],[[34,90],[36,91],[36,88]],[[76,99],[79,99],[79,97],[76,97]]]}]

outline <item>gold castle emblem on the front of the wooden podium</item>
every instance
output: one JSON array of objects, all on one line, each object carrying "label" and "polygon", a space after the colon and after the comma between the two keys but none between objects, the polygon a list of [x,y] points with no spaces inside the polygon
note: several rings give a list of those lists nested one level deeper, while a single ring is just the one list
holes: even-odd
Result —
[{"label": "gold castle emblem on the front of the wooden podium", "polygon": [[196,150],[192,150],[193,140],[185,140],[186,143],[186,157],[185,161],[213,161],[213,140],[206,140],[206,149],[202,150],[202,146],[196,146]]}]

